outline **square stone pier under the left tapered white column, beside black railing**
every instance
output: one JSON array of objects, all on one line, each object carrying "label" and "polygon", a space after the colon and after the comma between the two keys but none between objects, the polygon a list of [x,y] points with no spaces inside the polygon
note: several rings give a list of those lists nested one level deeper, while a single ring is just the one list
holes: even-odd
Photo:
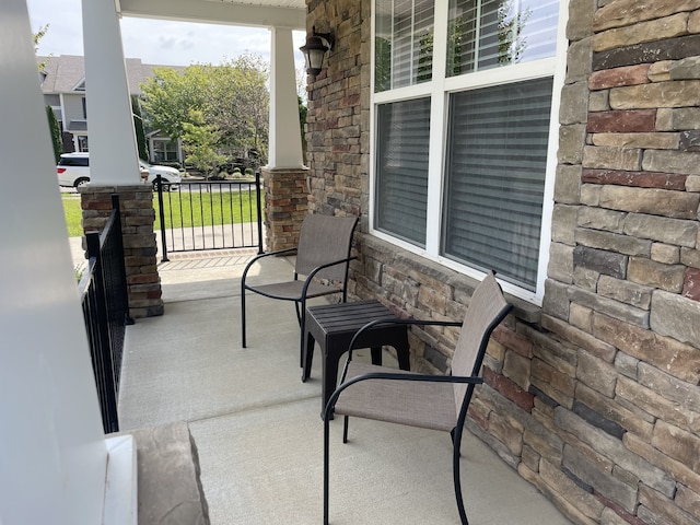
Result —
[{"label": "square stone pier under the left tapered white column, beside black railing", "polygon": [[133,186],[96,186],[80,188],[83,230],[101,232],[112,212],[112,195],[119,196],[124,261],[127,275],[129,314],[132,318],[163,315],[161,278],[158,273],[158,246],[153,222],[153,188]]}]

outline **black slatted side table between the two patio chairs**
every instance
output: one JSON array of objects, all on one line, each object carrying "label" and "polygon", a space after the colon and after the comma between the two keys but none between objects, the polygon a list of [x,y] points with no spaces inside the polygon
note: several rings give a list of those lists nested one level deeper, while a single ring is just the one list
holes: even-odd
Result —
[{"label": "black slatted side table between the two patio chairs", "polygon": [[[302,381],[311,375],[314,345],[318,341],[323,358],[322,417],[330,395],[336,389],[338,363],[348,351],[352,336],[364,325],[376,319],[396,319],[378,301],[324,304],[306,308],[304,371]],[[365,330],[355,341],[355,348],[371,348],[372,363],[382,364],[382,346],[396,349],[401,370],[410,370],[406,325],[376,326]]]}]

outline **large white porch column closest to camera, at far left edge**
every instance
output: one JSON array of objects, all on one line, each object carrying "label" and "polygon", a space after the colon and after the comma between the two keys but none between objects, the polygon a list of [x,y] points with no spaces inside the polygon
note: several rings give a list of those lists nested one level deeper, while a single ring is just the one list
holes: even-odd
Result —
[{"label": "large white porch column closest to camera, at far left edge", "polygon": [[107,448],[25,0],[0,2],[0,522],[103,523]]}]

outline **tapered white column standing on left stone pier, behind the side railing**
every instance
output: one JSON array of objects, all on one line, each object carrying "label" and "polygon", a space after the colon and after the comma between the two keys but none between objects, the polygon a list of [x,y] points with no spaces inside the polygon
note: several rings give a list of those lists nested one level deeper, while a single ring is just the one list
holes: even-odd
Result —
[{"label": "tapered white column standing on left stone pier, behind the side railing", "polygon": [[114,0],[83,0],[90,176],[100,185],[139,184],[138,149]]}]

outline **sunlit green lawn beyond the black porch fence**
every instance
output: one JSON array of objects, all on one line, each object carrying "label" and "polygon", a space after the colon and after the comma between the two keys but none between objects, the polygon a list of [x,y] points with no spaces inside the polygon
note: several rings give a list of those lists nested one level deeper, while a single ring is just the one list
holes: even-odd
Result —
[{"label": "sunlit green lawn beyond the black porch fence", "polygon": [[[63,194],[63,212],[69,237],[83,234],[80,196]],[[158,194],[153,194],[154,230],[161,229]],[[167,228],[210,226],[257,221],[255,194],[248,191],[171,191],[163,194],[163,210]]]}]

